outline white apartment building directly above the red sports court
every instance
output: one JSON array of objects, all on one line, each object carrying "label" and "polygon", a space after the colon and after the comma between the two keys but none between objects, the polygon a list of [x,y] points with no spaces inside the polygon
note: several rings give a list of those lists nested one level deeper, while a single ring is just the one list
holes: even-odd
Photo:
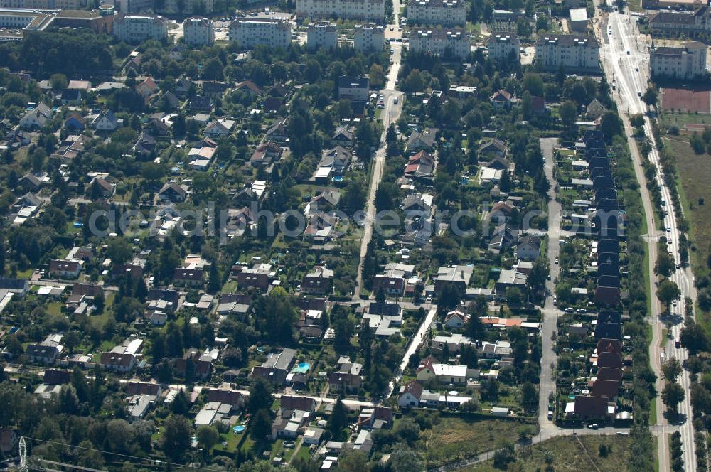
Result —
[{"label": "white apartment building directly above the red sports court", "polygon": [[649,54],[653,77],[691,80],[706,75],[706,45],[689,41],[681,47],[654,47]]}]

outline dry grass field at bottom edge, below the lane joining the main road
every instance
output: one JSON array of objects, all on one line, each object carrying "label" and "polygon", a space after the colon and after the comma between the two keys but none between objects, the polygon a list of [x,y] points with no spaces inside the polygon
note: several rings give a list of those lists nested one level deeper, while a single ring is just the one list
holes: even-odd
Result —
[{"label": "dry grass field at bottom edge, below the lane joining the main road", "polygon": [[[549,439],[541,444],[535,444],[532,454],[518,453],[516,463],[521,466],[515,470],[524,472],[543,471],[548,460],[555,472],[605,471],[624,472],[627,466],[629,437],[619,436],[579,436],[580,441],[572,436]],[[599,454],[600,444],[612,447],[611,452],[602,457]],[[550,454],[548,454],[550,452]],[[498,472],[492,461],[462,469],[466,472]],[[509,466],[510,470],[510,466]]]}]

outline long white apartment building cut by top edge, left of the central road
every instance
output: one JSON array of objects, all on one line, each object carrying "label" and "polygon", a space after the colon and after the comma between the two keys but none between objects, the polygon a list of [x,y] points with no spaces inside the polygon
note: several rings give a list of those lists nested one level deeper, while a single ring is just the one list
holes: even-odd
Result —
[{"label": "long white apartment building cut by top edge, left of the central road", "polygon": [[348,18],[385,21],[383,0],[296,0],[297,18]]}]

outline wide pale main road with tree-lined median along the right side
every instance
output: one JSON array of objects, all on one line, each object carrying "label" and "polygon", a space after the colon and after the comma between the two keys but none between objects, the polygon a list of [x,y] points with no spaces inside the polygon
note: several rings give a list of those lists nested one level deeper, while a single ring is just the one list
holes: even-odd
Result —
[{"label": "wide pale main road with tree-lined median along the right side", "polygon": [[[598,23],[599,24],[599,23]],[[668,251],[673,254],[675,262],[680,264],[679,258],[679,236],[678,225],[675,215],[675,208],[671,200],[671,194],[667,184],[664,181],[661,166],[659,164],[659,154],[654,141],[652,139],[652,127],[649,117],[646,116],[648,111],[646,104],[641,101],[640,94],[643,94],[647,89],[648,77],[648,38],[642,36],[637,28],[635,18],[626,13],[613,12],[609,14],[606,25],[597,29],[597,33],[602,43],[602,61],[610,82],[614,82],[616,90],[613,91],[613,97],[618,104],[620,112],[632,114],[644,114],[644,130],[647,136],[650,136],[652,141],[652,149],[648,156],[649,161],[656,166],[656,183],[661,188],[662,198],[665,201],[665,210],[667,215],[664,218],[664,231],[658,232],[654,222],[653,213],[651,213],[651,200],[646,191],[646,181],[641,173],[641,162],[638,156],[636,146],[631,146],[633,156],[636,160],[636,170],[641,193],[645,203],[645,209],[648,220],[648,243],[650,249],[650,264],[653,267],[656,257],[656,242],[661,235],[665,235],[668,240]],[[634,143],[632,136],[633,130],[629,126],[629,120],[624,119],[625,130],[629,142]],[[693,284],[691,283],[690,269],[678,269],[672,275],[671,280],[678,286],[682,294],[682,298],[677,302],[677,306],[672,309],[672,312],[683,316],[685,312],[684,297],[689,296],[692,299],[695,297]],[[687,358],[686,350],[676,348],[673,340],[667,339],[663,343],[660,342],[662,336],[663,323],[660,316],[664,310],[659,304],[659,301],[654,296],[656,291],[655,277],[651,274],[650,292],[652,297],[652,313],[650,320],[653,323],[653,340],[650,345],[650,360],[651,364],[658,375],[660,375],[660,358],[661,353],[665,353],[665,358],[675,357],[683,362]],[[680,318],[680,317],[678,317]],[[671,328],[673,338],[678,338],[681,325],[675,324]],[[686,470],[693,471],[696,469],[695,463],[695,446],[694,446],[694,431],[692,424],[692,410],[690,406],[690,378],[689,373],[684,370],[678,378],[678,382],[685,390],[685,400],[679,405],[678,412],[681,417],[681,424],[678,429],[682,435],[683,443],[683,459]],[[663,382],[661,379],[657,382],[657,390],[661,391]],[[657,424],[658,431],[673,431],[673,427],[666,424],[663,416],[663,406],[659,397],[656,399],[657,405]],[[666,444],[666,435],[658,434],[659,445],[659,461],[660,470],[669,470],[668,446]]]}]

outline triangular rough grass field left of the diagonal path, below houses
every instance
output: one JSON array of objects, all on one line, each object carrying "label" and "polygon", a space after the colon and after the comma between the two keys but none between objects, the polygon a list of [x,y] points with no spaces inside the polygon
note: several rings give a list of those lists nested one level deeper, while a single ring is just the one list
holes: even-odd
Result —
[{"label": "triangular rough grass field left of the diagonal path, below houses", "polygon": [[443,418],[442,422],[423,434],[427,467],[471,457],[496,447],[502,439],[515,441],[523,424],[509,421],[468,421]]}]

